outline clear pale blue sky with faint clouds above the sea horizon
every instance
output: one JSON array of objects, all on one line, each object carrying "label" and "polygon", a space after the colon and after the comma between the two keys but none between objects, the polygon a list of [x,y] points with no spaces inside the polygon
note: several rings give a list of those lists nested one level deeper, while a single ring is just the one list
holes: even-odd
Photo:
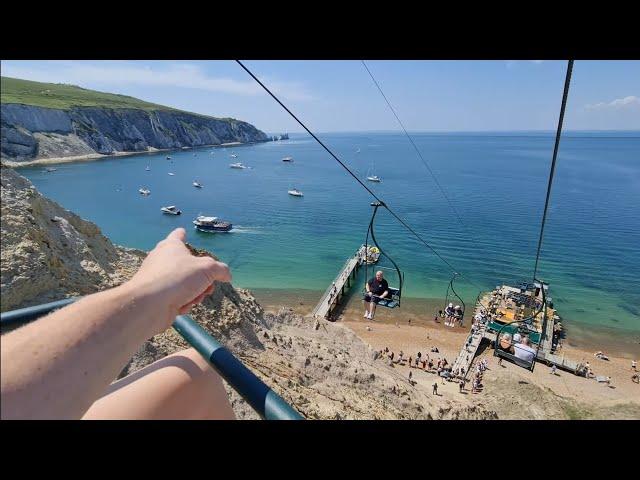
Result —
[{"label": "clear pale blue sky with faint clouds above the sea horizon", "polygon": [[[359,60],[244,61],[314,132],[397,131]],[[409,131],[552,130],[565,61],[366,61]],[[267,133],[303,131],[234,61],[1,62],[3,76],[68,83]],[[640,130],[640,61],[576,61],[565,130]]]}]

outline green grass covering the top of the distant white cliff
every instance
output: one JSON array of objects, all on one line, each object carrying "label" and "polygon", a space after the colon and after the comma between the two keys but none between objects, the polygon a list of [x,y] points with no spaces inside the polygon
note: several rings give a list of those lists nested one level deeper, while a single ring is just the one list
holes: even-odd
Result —
[{"label": "green grass covering the top of the distant white cliff", "polygon": [[[175,108],[149,103],[137,98],[115,93],[96,92],[75,85],[63,83],[41,83],[18,78],[0,78],[1,103],[19,103],[36,107],[69,110],[72,107],[102,107],[102,108],[136,108],[147,111],[169,110],[183,112]],[[215,118],[198,113],[190,113],[200,117]],[[220,119],[227,122],[237,121],[231,118]]]}]

